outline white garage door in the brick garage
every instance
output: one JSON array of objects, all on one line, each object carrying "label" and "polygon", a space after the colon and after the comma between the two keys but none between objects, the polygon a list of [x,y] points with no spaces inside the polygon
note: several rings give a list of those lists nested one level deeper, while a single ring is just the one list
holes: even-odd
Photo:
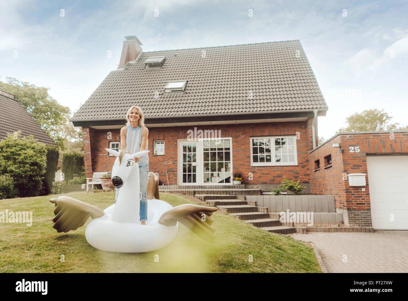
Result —
[{"label": "white garage door in the brick garage", "polygon": [[408,155],[367,156],[374,229],[408,229]]}]

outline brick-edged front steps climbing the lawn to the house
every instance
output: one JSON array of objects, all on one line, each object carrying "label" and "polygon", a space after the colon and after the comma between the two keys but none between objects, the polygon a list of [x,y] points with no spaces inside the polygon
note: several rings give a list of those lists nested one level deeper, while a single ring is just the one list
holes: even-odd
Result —
[{"label": "brick-edged front steps climbing the lawn to the house", "polygon": [[244,222],[266,231],[279,234],[292,234],[296,232],[293,223],[292,225],[289,223],[282,224],[279,219],[273,218],[271,213],[268,213],[267,207],[256,206],[256,201],[246,201],[245,196],[196,194],[195,197],[220,208],[220,212],[235,216],[235,218],[244,220]]}]

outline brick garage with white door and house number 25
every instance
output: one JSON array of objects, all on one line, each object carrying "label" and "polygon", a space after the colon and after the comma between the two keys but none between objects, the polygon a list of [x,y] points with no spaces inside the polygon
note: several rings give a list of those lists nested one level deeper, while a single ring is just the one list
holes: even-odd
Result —
[{"label": "brick garage with white door and house number 25", "polygon": [[[338,133],[309,164],[311,192],[335,195],[345,225],[408,229],[408,130]],[[355,173],[364,182],[351,186]]]}]

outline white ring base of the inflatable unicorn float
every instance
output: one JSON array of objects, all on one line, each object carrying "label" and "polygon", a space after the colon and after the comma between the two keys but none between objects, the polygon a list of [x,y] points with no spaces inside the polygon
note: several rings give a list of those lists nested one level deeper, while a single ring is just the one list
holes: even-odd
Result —
[{"label": "white ring base of the inflatable unicorn float", "polygon": [[111,219],[115,204],[104,210],[105,215],[92,220],[85,230],[88,243],[104,251],[141,253],[165,247],[177,235],[178,222],[175,226],[164,226],[158,220],[162,213],[172,209],[162,200],[147,200],[148,211],[146,225],[137,223],[115,222]]}]

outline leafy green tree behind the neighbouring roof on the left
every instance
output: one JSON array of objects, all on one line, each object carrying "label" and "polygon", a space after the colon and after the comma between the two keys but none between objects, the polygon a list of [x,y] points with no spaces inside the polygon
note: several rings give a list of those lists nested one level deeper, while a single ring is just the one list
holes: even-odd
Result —
[{"label": "leafy green tree behind the neighbouring roof on the left", "polygon": [[60,149],[64,149],[64,131],[62,128],[71,127],[69,121],[71,111],[49,96],[49,88],[37,87],[28,82],[19,81],[13,77],[6,77],[7,81],[0,81],[0,90],[16,96],[16,100],[29,112],[41,128],[54,140]]}]

